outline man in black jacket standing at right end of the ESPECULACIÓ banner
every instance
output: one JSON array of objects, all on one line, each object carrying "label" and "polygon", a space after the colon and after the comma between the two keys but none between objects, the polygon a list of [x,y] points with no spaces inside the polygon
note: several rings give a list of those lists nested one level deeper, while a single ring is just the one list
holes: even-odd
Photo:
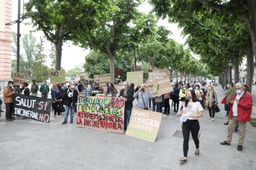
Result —
[{"label": "man in black jacket standing at right end of the ESPECULACI\u00d3 banner", "polygon": [[126,130],[130,121],[130,114],[132,113],[132,102],[134,101],[134,91],[129,88],[127,81],[122,83],[122,90],[118,97],[126,101],[126,105],[124,106],[124,130]]}]

